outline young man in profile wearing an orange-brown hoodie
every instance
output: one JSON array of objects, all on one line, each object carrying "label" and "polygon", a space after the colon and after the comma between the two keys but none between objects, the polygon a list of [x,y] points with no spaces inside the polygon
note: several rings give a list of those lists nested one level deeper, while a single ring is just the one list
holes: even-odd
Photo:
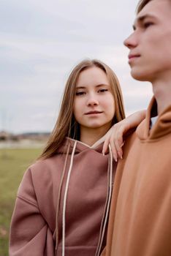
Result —
[{"label": "young man in profile wearing an orange-brown hoodie", "polygon": [[152,83],[153,99],[118,163],[102,255],[170,256],[171,0],[140,1],[124,44],[132,77]]}]

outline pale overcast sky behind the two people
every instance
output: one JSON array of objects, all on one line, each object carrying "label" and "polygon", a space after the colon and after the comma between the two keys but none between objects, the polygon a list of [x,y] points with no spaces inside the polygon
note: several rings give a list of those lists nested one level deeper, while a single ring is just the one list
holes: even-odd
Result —
[{"label": "pale overcast sky behind the two people", "polygon": [[133,80],[123,46],[137,0],[1,0],[0,130],[51,131],[69,72],[95,58],[113,68],[126,115],[147,108],[152,89]]}]

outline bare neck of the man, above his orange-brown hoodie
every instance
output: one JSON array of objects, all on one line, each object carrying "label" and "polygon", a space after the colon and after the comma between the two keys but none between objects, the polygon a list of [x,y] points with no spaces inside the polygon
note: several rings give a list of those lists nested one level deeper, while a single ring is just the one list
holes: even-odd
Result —
[{"label": "bare neck of the man, above his orange-brown hoodie", "polygon": [[157,102],[158,115],[167,106],[171,105],[171,80],[170,83],[165,81],[155,81],[153,83],[153,94]]}]

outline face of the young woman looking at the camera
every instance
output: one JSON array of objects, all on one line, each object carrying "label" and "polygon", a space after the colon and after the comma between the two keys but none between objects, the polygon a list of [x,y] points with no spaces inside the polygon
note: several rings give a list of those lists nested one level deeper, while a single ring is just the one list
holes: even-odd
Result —
[{"label": "face of the young woman looking at the camera", "polygon": [[111,127],[115,114],[115,102],[105,72],[99,67],[83,70],[77,80],[74,116],[83,129],[104,129]]}]

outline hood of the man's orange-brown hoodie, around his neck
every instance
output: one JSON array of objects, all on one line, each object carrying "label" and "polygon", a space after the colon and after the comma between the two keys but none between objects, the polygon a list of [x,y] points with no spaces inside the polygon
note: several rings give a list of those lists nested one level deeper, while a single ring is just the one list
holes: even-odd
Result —
[{"label": "hood of the man's orange-brown hoodie, around his neck", "polygon": [[151,116],[157,113],[156,99],[153,97],[148,107],[145,120],[137,127],[137,136],[140,140],[159,140],[171,132],[171,105],[164,109],[158,116],[156,123],[150,129]]}]

